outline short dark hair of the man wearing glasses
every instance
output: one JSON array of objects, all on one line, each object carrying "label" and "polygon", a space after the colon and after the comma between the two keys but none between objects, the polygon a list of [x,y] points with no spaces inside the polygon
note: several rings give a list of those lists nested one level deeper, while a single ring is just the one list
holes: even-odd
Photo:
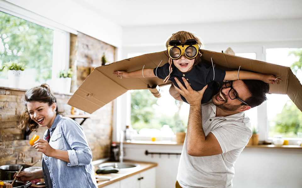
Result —
[{"label": "short dark hair of the man wearing glasses", "polygon": [[[261,80],[242,80],[246,87],[249,89],[249,92],[252,94],[252,97],[249,97],[245,100],[250,107],[256,107],[266,101],[266,93],[270,90],[269,84]],[[245,105],[242,103],[242,105]]]}]

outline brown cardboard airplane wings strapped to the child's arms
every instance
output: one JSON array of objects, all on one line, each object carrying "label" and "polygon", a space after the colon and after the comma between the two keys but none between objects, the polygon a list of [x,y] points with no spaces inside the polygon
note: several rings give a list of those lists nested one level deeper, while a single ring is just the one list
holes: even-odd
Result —
[{"label": "brown cardboard airplane wings strapped to the child's arms", "polygon": [[[274,65],[259,60],[229,55],[209,50],[201,50],[205,60],[224,70],[249,70],[263,74],[282,76],[279,85],[270,84],[270,93],[287,94],[296,106],[302,111],[302,86],[289,67]],[[92,71],[68,104],[85,112],[92,113],[122,95],[127,90],[148,89],[149,86],[164,86],[166,84],[159,78],[122,78],[113,74],[115,70],[134,71],[144,68],[156,68],[169,60],[167,51],[140,55],[137,57],[117,61],[109,65],[99,66]],[[162,62],[161,62],[162,61]],[[161,62],[161,63],[160,63]],[[240,74],[240,73],[239,73]]]}]

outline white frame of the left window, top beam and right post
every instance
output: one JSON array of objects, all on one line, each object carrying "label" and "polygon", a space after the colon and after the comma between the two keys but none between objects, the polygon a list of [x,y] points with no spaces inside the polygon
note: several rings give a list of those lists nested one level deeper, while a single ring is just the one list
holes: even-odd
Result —
[{"label": "white frame of the left window, top beam and right post", "polygon": [[70,33],[77,31],[7,1],[0,0],[0,11],[53,30],[52,83],[56,83],[59,70],[69,68]]}]

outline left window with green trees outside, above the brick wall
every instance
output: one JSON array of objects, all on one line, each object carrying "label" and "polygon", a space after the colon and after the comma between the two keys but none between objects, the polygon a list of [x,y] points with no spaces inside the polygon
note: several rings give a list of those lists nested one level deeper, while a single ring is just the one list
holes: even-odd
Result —
[{"label": "left window with green trees outside, above the brick wall", "polygon": [[[0,68],[12,62],[24,64],[19,84],[21,89],[41,83],[52,85],[51,80],[59,70],[68,68],[68,37],[67,32],[0,12]],[[0,80],[0,86],[10,86],[7,70],[0,72]]]}]

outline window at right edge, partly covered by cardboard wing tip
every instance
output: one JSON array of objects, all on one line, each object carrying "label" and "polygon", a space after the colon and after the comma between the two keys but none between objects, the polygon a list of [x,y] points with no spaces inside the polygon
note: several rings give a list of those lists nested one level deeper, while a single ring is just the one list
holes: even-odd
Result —
[{"label": "window at right edge, partly covered by cardboard wing tip", "polygon": [[[291,67],[302,81],[302,48],[266,49],[266,61]],[[267,95],[269,137],[282,135],[285,138],[302,137],[302,112],[287,95]]]}]

